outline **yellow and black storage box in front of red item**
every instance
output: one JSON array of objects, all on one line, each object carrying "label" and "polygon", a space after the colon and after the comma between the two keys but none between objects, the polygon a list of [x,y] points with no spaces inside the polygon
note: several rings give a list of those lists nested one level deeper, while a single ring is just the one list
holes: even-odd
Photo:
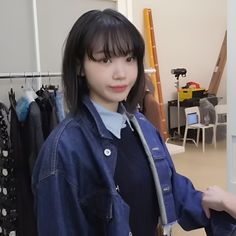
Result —
[{"label": "yellow and black storage box in front of red item", "polygon": [[179,100],[203,98],[206,96],[206,90],[203,88],[182,88],[179,90]]}]

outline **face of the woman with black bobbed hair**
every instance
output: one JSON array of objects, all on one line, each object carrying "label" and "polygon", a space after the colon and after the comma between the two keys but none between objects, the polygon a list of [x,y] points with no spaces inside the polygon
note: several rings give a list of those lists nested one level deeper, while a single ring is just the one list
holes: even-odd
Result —
[{"label": "face of the woman with black bobbed hair", "polygon": [[93,57],[95,61],[85,57],[83,70],[89,96],[106,109],[117,111],[137,79],[137,60],[132,54],[107,58],[102,50],[96,50]]}]

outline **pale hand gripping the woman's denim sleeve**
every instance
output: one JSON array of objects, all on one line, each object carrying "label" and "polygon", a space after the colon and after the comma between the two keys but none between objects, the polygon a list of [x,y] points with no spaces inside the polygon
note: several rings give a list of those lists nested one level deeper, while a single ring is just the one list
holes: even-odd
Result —
[{"label": "pale hand gripping the woman's denim sleeve", "polygon": [[224,202],[228,198],[228,194],[223,189],[218,186],[211,186],[203,193],[202,206],[205,211],[205,214],[210,218],[210,209],[216,211],[224,211],[225,204]]}]

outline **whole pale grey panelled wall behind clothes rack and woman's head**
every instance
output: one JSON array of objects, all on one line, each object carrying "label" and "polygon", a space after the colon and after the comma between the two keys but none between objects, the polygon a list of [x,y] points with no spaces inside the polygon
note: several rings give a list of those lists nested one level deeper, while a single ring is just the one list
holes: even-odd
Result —
[{"label": "whole pale grey panelled wall behind clothes rack and woman's head", "polygon": [[[32,2],[1,1],[0,73],[37,72]],[[115,2],[105,0],[37,0],[36,4],[42,72],[61,71],[63,42],[82,13],[116,8]],[[9,89],[13,87],[18,95],[24,83],[25,79],[1,80],[0,101],[8,105]]]}]

